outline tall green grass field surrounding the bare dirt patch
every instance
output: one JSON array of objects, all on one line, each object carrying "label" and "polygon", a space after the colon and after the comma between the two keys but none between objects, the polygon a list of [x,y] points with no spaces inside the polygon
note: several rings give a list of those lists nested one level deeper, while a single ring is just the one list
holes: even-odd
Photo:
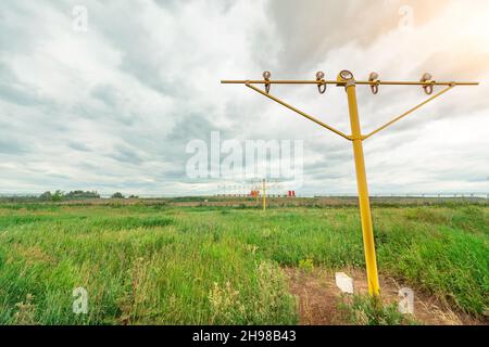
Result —
[{"label": "tall green grass field surrounding the bare dirt patch", "polygon": [[[487,205],[374,206],[379,269],[485,319]],[[293,324],[283,267],[363,267],[354,206],[0,205],[1,324]],[[73,290],[88,313],[73,313]],[[487,316],[486,316],[487,318]]]}]

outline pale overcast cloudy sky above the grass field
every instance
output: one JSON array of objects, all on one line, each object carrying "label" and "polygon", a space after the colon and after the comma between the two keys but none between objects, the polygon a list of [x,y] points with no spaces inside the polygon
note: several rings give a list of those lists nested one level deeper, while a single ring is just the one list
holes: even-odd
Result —
[{"label": "pale overcast cloudy sky above the grass field", "polygon": [[[303,140],[298,193],[354,193],[349,141],[244,86],[220,83],[260,79],[265,69],[283,79],[350,69],[358,79],[375,70],[386,80],[429,72],[480,81],[449,91],[364,150],[374,194],[489,193],[486,0],[3,0],[0,193],[215,193],[222,179],[186,174],[188,143],[210,143],[211,131],[240,143]],[[273,93],[350,132],[342,88]],[[415,87],[358,93],[365,132],[427,98]]]}]

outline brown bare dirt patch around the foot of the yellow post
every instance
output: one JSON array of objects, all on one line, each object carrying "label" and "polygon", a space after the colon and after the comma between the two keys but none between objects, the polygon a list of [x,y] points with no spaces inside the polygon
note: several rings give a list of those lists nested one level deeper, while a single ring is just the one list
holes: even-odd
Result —
[{"label": "brown bare dirt patch around the foot of the yellow post", "polygon": [[[365,271],[343,269],[353,278],[354,293],[367,294]],[[335,272],[325,269],[300,270],[286,268],[290,291],[299,298],[300,324],[302,325],[341,325],[346,324],[338,304],[342,293],[335,282]],[[399,290],[405,285],[392,278],[380,275],[381,297],[385,304],[399,303]],[[409,285],[406,285],[409,286]],[[414,320],[427,325],[474,325],[486,324],[468,314],[455,312],[436,297],[414,290]],[[344,294],[343,294],[344,295]]]}]

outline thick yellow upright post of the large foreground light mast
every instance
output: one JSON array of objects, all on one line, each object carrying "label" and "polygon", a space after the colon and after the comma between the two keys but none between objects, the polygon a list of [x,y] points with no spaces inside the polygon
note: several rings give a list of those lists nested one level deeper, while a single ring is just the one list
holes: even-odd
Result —
[{"label": "thick yellow upright post of the large foreground light mast", "polygon": [[350,79],[346,85],[348,95],[348,108],[353,141],[353,154],[355,160],[356,185],[359,190],[360,217],[362,220],[363,247],[368,281],[368,293],[372,296],[379,294],[377,260],[375,256],[374,228],[372,224],[371,203],[368,201],[368,188],[365,174],[365,160],[363,157],[362,131],[360,129],[359,110],[356,106],[355,81]]}]

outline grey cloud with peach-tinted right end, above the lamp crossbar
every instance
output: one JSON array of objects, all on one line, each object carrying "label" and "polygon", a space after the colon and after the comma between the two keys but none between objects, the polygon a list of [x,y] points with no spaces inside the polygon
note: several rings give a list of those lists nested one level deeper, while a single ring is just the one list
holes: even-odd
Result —
[{"label": "grey cloud with peach-tinted right end, above the lamp crossbar", "polygon": [[[265,14],[274,35],[255,39],[254,48],[277,46],[276,56],[260,60],[261,65],[276,62],[269,68],[279,73],[310,72],[315,62],[323,61],[333,50],[347,42],[372,44],[386,30],[398,28],[401,5],[412,7],[415,25],[431,20],[446,1],[267,1]],[[423,8],[423,9],[422,9]],[[314,14],[312,16],[312,14]],[[327,68],[327,67],[325,67]]]}]

